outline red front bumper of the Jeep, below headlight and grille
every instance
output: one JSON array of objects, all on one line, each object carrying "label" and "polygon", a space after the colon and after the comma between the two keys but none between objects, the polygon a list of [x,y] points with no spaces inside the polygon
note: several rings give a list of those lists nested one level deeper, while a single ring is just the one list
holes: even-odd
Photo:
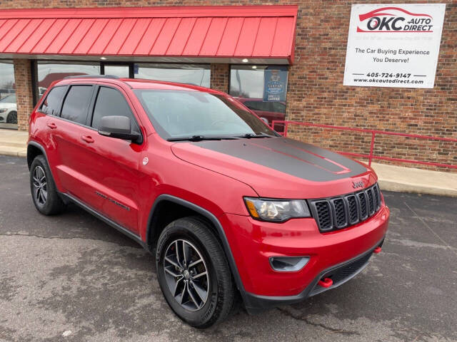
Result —
[{"label": "red front bumper of the Jeep, below headlight and grille", "polygon": [[[383,203],[366,221],[328,233],[319,232],[313,218],[278,224],[224,214],[219,219],[243,283],[246,309],[253,312],[291,304],[323,291],[316,287],[323,276],[360,258],[369,258],[373,249],[382,244],[389,214]],[[300,271],[274,271],[268,258],[278,256],[308,256],[310,260]],[[366,262],[328,289],[351,279],[364,266]]]}]

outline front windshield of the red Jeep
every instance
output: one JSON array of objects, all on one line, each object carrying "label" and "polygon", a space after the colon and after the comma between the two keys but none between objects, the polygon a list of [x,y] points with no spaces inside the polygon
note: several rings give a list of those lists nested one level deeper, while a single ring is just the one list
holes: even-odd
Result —
[{"label": "front windshield of the red Jeep", "polygon": [[187,90],[134,90],[157,133],[164,138],[276,136],[231,98]]}]

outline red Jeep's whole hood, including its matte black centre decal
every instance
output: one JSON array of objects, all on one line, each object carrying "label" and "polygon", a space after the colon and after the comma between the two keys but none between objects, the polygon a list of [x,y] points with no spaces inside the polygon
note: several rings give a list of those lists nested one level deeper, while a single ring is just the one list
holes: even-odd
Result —
[{"label": "red Jeep's whole hood, including its matte black centre decal", "polygon": [[176,157],[250,185],[261,197],[320,198],[376,182],[371,168],[338,153],[288,138],[178,142]]}]

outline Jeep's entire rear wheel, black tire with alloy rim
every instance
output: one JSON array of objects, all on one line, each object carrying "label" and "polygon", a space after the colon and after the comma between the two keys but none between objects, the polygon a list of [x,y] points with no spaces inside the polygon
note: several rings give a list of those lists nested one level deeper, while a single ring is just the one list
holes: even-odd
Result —
[{"label": "Jeep's entire rear wheel, black tire with alloy rim", "polygon": [[31,163],[30,192],[35,207],[41,214],[59,214],[65,209],[43,155],[37,155]]}]

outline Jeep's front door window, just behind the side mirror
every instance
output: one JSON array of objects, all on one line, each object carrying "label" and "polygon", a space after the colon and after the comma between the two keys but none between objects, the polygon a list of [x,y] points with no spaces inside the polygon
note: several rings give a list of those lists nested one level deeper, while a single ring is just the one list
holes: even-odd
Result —
[{"label": "Jeep's front door window, just behind the side mirror", "polygon": [[100,87],[95,103],[92,127],[99,129],[101,118],[111,115],[126,116],[130,119],[131,130],[139,132],[134,114],[131,113],[129,103],[127,103],[124,95],[113,88]]}]

